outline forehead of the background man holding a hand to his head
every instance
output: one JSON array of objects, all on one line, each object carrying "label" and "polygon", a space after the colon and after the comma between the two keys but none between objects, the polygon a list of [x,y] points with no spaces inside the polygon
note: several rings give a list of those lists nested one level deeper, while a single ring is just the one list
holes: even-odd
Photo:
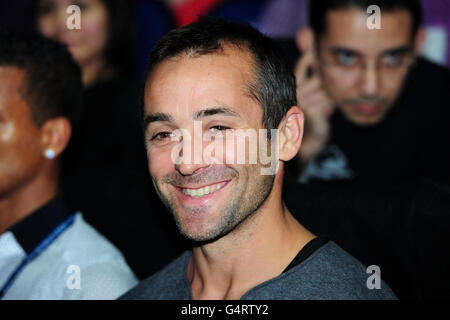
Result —
[{"label": "forehead of the background man holding a hand to his head", "polygon": [[327,46],[341,46],[365,54],[378,54],[411,42],[411,15],[406,10],[381,11],[381,29],[369,29],[370,17],[357,8],[330,11],[327,29],[320,39]]}]

